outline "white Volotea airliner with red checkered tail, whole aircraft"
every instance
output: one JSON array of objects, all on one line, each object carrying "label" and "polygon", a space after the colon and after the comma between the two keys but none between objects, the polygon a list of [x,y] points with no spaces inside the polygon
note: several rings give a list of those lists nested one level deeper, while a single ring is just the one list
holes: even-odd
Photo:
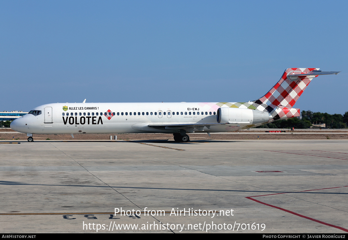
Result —
[{"label": "white Volotea airliner with red checkered tail, whole aircraft", "polygon": [[187,142],[187,133],[230,132],[300,116],[292,108],[318,75],[319,68],[288,68],[263,97],[248,102],[55,103],[35,107],[11,128],[32,134],[171,133]]}]

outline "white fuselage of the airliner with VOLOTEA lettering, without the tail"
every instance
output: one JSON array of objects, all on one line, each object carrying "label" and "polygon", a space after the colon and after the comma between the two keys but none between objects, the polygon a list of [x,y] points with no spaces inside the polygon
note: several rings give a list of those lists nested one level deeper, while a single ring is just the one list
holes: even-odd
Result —
[{"label": "white fuselage of the airliner with VOLOTEA lettering, without the tail", "polygon": [[[178,128],[157,129],[148,125],[217,123],[216,112],[220,107],[217,103],[211,102],[46,104],[33,109],[41,111],[39,115],[30,113],[24,115],[13,121],[11,128],[32,134],[176,133],[180,132]],[[252,111],[243,109],[243,116],[240,114],[237,116],[240,119],[235,120],[241,122],[238,125],[186,127],[185,131],[187,133],[237,131],[253,124]]]}]

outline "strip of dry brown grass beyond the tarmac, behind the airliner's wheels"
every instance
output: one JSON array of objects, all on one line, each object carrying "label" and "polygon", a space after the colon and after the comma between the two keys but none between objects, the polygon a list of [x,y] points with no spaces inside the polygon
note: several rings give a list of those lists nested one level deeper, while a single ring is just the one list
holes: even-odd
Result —
[{"label": "strip of dry brown grass beyond the tarmac, behind the airliner's wheels", "polygon": [[[74,134],[74,138],[70,134],[34,134],[34,140],[110,140],[110,135],[117,135],[118,140],[160,140],[169,139],[173,140],[172,134],[152,134],[152,133],[139,133],[139,134]],[[348,134],[211,134],[209,137],[207,134],[189,134],[190,140],[250,140],[250,139],[348,139]],[[27,136],[24,133],[0,133],[0,140],[26,140]]]}]

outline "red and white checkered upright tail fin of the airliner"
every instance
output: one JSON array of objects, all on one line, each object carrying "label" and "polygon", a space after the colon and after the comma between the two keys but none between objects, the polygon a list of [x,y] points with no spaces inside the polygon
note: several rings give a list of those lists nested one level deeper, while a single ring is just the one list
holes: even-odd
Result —
[{"label": "red and white checkered upright tail fin of the airliner", "polygon": [[254,102],[275,106],[282,105],[291,108],[294,106],[297,99],[299,99],[310,81],[314,77],[322,75],[322,73],[331,74],[331,72],[319,71],[319,68],[288,68],[285,70],[279,82],[277,82],[262,98]]}]

